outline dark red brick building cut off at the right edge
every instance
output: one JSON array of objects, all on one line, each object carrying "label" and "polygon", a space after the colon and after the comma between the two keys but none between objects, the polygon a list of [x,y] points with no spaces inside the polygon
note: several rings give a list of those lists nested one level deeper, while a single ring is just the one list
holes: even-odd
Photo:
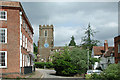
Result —
[{"label": "dark red brick building cut off at the right edge", "polygon": [[114,38],[115,63],[120,63],[120,36]]}]

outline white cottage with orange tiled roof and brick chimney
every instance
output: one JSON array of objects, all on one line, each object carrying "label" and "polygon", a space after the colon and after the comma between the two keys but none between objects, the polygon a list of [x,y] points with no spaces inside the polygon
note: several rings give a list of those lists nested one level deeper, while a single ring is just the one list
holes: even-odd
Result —
[{"label": "white cottage with orange tiled roof and brick chimney", "polygon": [[104,46],[93,46],[92,57],[100,59],[100,62],[95,62],[93,69],[106,69],[109,64],[115,63],[114,47],[109,47],[107,40]]}]

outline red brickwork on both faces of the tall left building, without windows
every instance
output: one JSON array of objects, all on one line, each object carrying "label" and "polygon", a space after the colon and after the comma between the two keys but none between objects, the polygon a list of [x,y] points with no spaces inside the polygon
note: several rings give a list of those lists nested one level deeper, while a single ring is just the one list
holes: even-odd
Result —
[{"label": "red brickwork on both faces of the tall left building, without windows", "polygon": [[[20,77],[20,11],[22,11],[22,19],[26,21],[28,28],[33,36],[33,28],[29,23],[25,12],[23,11],[19,2],[12,1],[0,1],[0,11],[7,11],[7,20],[0,20],[0,28],[7,28],[7,43],[0,44],[0,51],[7,51],[7,68],[0,68],[3,77]],[[7,6],[7,7],[6,7]],[[31,45],[28,45],[30,52],[33,52],[33,38],[28,34],[27,31],[21,25],[21,32],[27,38],[27,41]],[[27,42],[28,43],[28,42]],[[28,49],[25,49],[21,46],[22,60],[23,54],[29,55]],[[22,61],[22,65],[23,65]],[[24,73],[24,68],[22,66],[21,72]],[[5,75],[4,75],[5,74]]]}]

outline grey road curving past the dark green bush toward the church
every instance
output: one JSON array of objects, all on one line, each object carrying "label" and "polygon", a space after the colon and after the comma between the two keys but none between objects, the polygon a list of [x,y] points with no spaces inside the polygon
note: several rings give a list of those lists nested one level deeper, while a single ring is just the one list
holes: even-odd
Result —
[{"label": "grey road curving past the dark green bush toward the church", "polygon": [[[57,76],[55,75],[55,70],[49,69],[37,69],[40,73],[42,73],[42,80],[84,80],[82,78],[75,78],[75,77],[64,77],[64,76]],[[62,78],[62,79],[61,79]]]}]

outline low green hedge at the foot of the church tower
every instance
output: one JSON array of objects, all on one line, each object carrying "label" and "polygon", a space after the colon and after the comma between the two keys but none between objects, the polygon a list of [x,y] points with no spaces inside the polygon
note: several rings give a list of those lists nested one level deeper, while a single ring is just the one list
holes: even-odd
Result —
[{"label": "low green hedge at the foot of the church tower", "polygon": [[35,62],[35,67],[36,68],[53,68],[53,63],[51,62]]}]

